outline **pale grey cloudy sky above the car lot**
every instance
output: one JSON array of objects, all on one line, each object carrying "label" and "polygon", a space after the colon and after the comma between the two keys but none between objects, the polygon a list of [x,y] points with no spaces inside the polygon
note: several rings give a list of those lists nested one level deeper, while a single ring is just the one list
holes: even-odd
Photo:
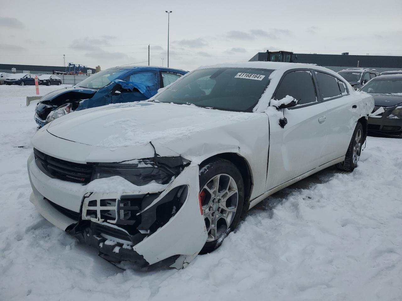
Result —
[{"label": "pale grey cloudy sky above the car lot", "polygon": [[[0,63],[102,69],[248,61],[258,51],[402,55],[401,0],[2,1]],[[139,63],[143,65],[147,63]]]}]

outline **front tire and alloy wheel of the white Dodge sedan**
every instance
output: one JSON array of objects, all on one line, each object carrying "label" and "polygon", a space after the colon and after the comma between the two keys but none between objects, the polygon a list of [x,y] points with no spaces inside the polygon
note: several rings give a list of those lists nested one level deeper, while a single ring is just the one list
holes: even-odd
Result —
[{"label": "front tire and alloy wheel of the white Dodge sedan", "polygon": [[244,183],[232,162],[214,159],[200,168],[200,203],[208,238],[200,254],[212,252],[240,222]]}]

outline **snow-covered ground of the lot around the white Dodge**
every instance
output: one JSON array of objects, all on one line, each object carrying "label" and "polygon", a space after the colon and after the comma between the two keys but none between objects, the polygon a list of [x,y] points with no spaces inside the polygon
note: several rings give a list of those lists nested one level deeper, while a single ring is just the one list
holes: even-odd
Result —
[{"label": "snow-covered ground of the lot around the white Dodge", "polygon": [[0,86],[0,300],[402,299],[402,140],[368,137],[353,173],[276,193],[184,270],[121,270],[29,202],[27,95],[34,86]]}]

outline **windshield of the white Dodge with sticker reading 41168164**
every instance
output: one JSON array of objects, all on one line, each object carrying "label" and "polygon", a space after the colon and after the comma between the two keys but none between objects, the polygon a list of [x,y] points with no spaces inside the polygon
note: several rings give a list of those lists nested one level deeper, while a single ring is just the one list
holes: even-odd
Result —
[{"label": "windshield of the white Dodge with sticker reading 41168164", "polygon": [[269,85],[272,72],[256,68],[199,69],[175,81],[157,96],[157,100],[251,112]]}]

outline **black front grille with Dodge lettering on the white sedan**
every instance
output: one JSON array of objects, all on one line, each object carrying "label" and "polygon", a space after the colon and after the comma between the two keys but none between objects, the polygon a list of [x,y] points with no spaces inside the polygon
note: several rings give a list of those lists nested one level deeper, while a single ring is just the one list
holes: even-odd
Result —
[{"label": "black front grille with Dodge lettering on the white sedan", "polygon": [[64,161],[33,149],[36,165],[49,177],[69,182],[87,184],[91,181],[93,166]]}]

